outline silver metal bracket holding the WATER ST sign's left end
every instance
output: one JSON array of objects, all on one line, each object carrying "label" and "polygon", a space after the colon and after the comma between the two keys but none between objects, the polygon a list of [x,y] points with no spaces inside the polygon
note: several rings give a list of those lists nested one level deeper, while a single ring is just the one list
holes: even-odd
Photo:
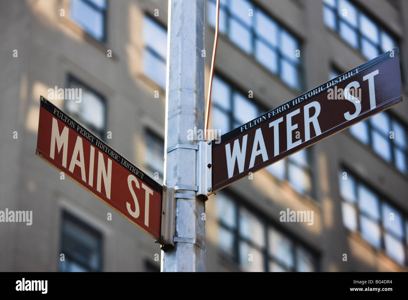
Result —
[{"label": "silver metal bracket holding the WATER ST sign's left end", "polygon": [[197,151],[197,167],[196,167],[196,182],[197,195],[208,195],[212,191],[212,145],[211,141],[198,142]]}]

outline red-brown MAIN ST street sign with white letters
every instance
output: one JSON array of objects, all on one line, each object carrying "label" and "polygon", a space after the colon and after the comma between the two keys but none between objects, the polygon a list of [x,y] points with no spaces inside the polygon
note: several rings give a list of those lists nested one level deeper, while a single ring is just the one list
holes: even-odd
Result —
[{"label": "red-brown MAIN ST street sign with white letters", "polygon": [[162,186],[42,96],[36,155],[160,241]]}]

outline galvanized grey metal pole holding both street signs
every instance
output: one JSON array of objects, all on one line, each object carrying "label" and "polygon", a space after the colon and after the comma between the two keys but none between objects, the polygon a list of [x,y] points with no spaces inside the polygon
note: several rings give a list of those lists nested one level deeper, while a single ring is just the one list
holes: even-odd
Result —
[{"label": "galvanized grey metal pole holding both street signs", "polygon": [[204,0],[169,0],[164,182],[176,189],[176,228],[162,272],[205,271],[205,205],[190,146],[197,141],[188,139],[188,130],[204,129],[204,20]]}]

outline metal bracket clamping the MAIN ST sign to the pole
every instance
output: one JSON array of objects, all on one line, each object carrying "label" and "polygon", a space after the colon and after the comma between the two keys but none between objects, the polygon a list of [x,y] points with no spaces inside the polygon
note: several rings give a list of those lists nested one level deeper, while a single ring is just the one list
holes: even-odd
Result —
[{"label": "metal bracket clamping the MAIN ST sign to the pole", "polygon": [[[163,185],[162,223],[160,225],[160,244],[162,250],[174,247],[174,233],[176,231],[176,200],[175,190]],[[170,247],[169,247],[170,246]]]}]

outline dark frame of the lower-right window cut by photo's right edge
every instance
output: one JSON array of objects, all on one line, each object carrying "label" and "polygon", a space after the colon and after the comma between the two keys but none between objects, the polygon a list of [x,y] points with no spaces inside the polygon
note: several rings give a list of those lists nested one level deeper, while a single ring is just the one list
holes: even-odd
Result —
[{"label": "dark frame of the lower-right window cut by photo's right edge", "polygon": [[[343,226],[344,228],[348,231],[348,232],[357,232],[361,238],[368,244],[370,245],[370,247],[372,247],[373,249],[375,249],[376,251],[384,251],[385,255],[392,259],[394,262],[396,262],[398,265],[400,266],[408,266],[408,229],[407,229],[407,224],[408,224],[408,214],[406,213],[406,211],[404,209],[401,209],[401,207],[399,207],[399,205],[395,204],[394,202],[388,200],[388,198],[386,196],[384,196],[384,194],[380,193],[379,191],[377,191],[377,189],[373,188],[373,186],[371,184],[369,184],[368,182],[366,182],[364,179],[361,179],[361,177],[359,177],[357,175],[357,173],[351,171],[350,168],[348,168],[346,165],[341,164],[340,168],[339,168],[339,180],[340,180],[340,176],[343,175],[343,172],[347,173],[347,176],[349,176],[349,174],[353,177],[353,180],[355,181],[355,185],[354,185],[354,189],[353,189],[353,194],[355,196],[355,202],[352,203],[350,201],[348,201],[347,199],[343,198],[341,196],[341,187],[339,184],[339,197],[341,200],[341,204],[343,203],[347,203],[351,206],[353,206],[353,208],[355,209],[356,212],[356,230],[353,231],[351,229],[348,229],[345,224],[344,221],[342,219],[343,222]],[[344,180],[344,179],[341,179]],[[347,179],[348,180],[348,179]],[[372,193],[375,193],[375,195],[378,198],[378,212],[379,212],[379,219],[375,220],[375,218],[373,218],[372,216],[370,216],[368,213],[365,213],[364,211],[361,211],[361,209],[359,208],[359,198],[358,198],[358,186],[362,185],[366,188],[368,188]],[[400,213],[401,215],[401,222],[402,222],[402,238],[399,238],[395,233],[393,233],[392,231],[386,229],[384,227],[384,222],[383,222],[383,205],[386,204],[388,206],[391,206],[393,208],[396,209],[396,211],[398,213]],[[343,218],[343,211],[341,211],[341,215]],[[371,222],[374,222],[375,224],[377,224],[377,226],[380,229],[380,245],[379,247],[375,247],[373,244],[371,244],[368,240],[366,240],[363,236],[362,236],[362,232],[361,232],[361,221],[360,221],[360,216],[364,216],[365,218],[367,218],[368,220],[370,220]],[[386,244],[385,244],[385,234],[389,234],[390,236],[392,236],[392,238],[395,238],[396,240],[398,240],[399,242],[402,243],[403,245],[403,249],[404,249],[404,259],[405,259],[405,264],[401,264],[399,262],[397,262],[397,260],[395,260],[392,256],[390,256],[387,252],[386,249]]]}]

